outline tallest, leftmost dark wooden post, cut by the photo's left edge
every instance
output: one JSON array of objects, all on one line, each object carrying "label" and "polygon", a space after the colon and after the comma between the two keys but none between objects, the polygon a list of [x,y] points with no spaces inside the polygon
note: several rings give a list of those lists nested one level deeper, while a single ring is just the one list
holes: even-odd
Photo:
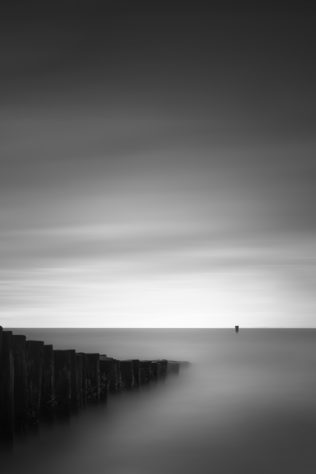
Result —
[{"label": "tallest, leftmost dark wooden post, cut by the photo's left edge", "polygon": [[0,331],[0,436],[10,443],[14,434],[14,362],[12,332]]}]

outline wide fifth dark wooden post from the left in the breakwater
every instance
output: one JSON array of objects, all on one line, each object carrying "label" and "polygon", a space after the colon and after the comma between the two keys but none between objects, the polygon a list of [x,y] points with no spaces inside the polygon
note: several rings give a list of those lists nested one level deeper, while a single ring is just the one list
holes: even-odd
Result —
[{"label": "wide fifth dark wooden post from the left in the breakwater", "polygon": [[54,350],[56,410],[67,415],[71,408],[71,351]]}]

